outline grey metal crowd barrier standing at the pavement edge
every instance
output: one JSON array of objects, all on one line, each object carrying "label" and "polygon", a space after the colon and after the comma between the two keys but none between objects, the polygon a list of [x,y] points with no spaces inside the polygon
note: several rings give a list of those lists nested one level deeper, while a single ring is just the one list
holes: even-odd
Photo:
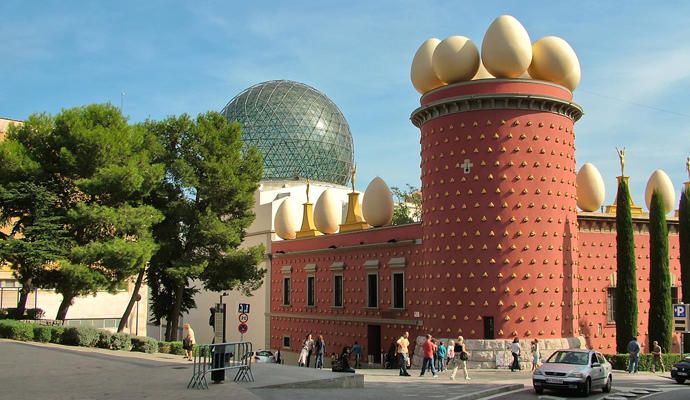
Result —
[{"label": "grey metal crowd barrier standing at the pavement edge", "polygon": [[235,382],[254,382],[253,357],[250,342],[197,345],[194,348],[192,378],[187,389],[208,389],[209,373],[212,381],[223,381],[229,370],[237,370],[233,378]]}]

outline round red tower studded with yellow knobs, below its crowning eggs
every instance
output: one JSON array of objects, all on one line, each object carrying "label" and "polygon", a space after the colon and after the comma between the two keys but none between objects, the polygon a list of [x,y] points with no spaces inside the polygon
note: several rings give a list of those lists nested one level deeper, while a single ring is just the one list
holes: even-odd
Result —
[{"label": "round red tower studded with yellow knobs, below its crowning eggs", "polygon": [[[532,80],[425,94],[424,326],[467,338],[577,334],[572,93]],[[448,335],[450,336],[450,335]]]}]

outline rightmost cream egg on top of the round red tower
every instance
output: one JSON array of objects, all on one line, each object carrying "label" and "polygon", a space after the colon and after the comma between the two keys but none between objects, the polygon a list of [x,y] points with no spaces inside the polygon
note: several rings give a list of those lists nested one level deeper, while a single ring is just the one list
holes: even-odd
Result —
[{"label": "rightmost cream egg on top of the round red tower", "polygon": [[546,36],[532,45],[529,74],[534,79],[557,83],[574,91],[580,84],[580,61],[568,42],[557,36]]}]

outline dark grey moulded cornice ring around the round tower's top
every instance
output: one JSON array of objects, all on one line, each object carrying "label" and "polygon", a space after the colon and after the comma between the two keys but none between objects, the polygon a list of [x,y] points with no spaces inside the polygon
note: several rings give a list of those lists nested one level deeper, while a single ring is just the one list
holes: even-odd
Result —
[{"label": "dark grey moulded cornice ring around the round tower's top", "polygon": [[530,110],[551,112],[570,118],[573,122],[582,117],[578,104],[544,95],[523,93],[495,93],[449,97],[419,107],[412,112],[410,120],[416,127],[434,118],[478,110]]}]

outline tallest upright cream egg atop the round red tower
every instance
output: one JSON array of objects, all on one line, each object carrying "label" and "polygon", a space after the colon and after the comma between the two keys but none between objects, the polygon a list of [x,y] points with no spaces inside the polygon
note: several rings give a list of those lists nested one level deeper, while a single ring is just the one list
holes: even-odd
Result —
[{"label": "tallest upright cream egg atop the round red tower", "polygon": [[496,78],[517,78],[532,62],[532,42],[522,24],[501,15],[489,25],[482,41],[482,62]]}]

